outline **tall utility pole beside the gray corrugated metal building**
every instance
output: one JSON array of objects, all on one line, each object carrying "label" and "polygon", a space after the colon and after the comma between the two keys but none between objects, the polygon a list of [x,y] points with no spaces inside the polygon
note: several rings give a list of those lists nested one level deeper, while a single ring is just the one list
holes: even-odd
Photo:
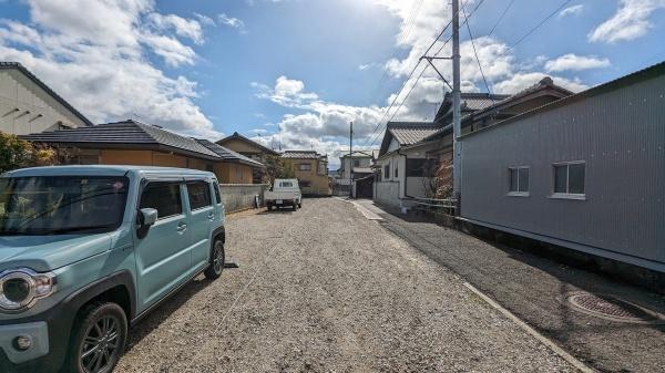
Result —
[{"label": "tall utility pole beside the gray corrugated metal building", "polygon": [[460,91],[460,2],[452,0],[452,194],[457,199],[456,214],[460,214],[462,152]]}]

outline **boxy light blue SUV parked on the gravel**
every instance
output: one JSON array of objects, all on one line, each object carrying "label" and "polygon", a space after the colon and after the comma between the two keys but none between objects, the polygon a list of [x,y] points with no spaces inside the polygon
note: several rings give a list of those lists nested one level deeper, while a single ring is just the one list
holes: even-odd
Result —
[{"label": "boxy light blue SUV parked on the gravel", "polygon": [[108,373],[127,328],[224,268],[212,173],[27,168],[0,177],[0,372]]}]

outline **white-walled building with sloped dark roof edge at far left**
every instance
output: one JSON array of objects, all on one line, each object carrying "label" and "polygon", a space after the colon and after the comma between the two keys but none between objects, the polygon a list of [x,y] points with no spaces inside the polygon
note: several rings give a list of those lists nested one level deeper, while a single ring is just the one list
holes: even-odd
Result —
[{"label": "white-walled building with sloped dark roof edge at far left", "polygon": [[92,123],[23,65],[0,62],[0,132],[27,135]]}]

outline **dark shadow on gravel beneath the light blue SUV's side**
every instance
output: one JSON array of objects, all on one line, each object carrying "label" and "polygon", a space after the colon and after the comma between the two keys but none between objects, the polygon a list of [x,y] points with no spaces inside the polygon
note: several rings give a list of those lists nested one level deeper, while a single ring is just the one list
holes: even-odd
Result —
[{"label": "dark shadow on gravel beneath the light blue SUV's side", "polygon": [[[225,267],[226,268],[226,267]],[[160,304],[155,310],[150,312],[145,319],[141,320],[136,325],[132,327],[127,338],[126,351],[139,344],[145,336],[152,333],[157,327],[162,324],[166,319],[171,317],[178,308],[181,308],[186,301],[205,289],[213,281],[206,279],[203,276],[197,277],[190,283],[185,284],[170,299],[165,300],[164,303]]]}]

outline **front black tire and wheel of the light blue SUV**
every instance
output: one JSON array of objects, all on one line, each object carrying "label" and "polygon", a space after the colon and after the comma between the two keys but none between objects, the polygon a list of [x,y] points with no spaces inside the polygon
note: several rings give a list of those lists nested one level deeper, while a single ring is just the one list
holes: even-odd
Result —
[{"label": "front black tire and wheel of the light blue SUV", "polygon": [[[65,373],[110,373],[124,352],[127,317],[113,302],[85,305],[74,321]],[[94,342],[93,342],[94,341]]]}]

